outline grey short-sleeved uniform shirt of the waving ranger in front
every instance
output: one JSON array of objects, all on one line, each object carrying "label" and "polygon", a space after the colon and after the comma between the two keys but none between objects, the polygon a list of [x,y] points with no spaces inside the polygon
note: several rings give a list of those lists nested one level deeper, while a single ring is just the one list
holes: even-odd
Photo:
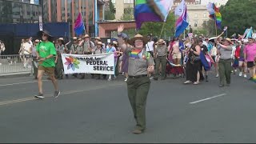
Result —
[{"label": "grey short-sleeved uniform shirt of the waving ranger in front", "polygon": [[138,76],[148,74],[148,66],[154,65],[154,59],[150,53],[142,50],[142,52],[139,54],[141,55],[139,56],[140,58],[132,58],[130,57],[131,50],[131,48],[126,48],[126,53],[129,55],[128,75]]}]

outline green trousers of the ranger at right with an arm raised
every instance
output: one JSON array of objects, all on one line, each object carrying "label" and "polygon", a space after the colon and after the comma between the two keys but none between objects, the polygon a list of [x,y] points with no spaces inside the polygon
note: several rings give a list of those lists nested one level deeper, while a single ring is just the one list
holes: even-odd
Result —
[{"label": "green trousers of the ranger at right with an arm raised", "polygon": [[220,78],[220,84],[224,85],[225,78],[226,84],[230,84],[231,78],[231,59],[219,59],[218,61],[218,73]]}]

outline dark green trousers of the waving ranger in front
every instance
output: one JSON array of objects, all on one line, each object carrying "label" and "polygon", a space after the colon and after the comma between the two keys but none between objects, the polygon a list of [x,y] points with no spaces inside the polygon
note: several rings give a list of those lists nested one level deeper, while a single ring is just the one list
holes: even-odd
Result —
[{"label": "dark green trousers of the waving ranger in front", "polygon": [[128,78],[127,90],[130,105],[137,122],[136,130],[146,129],[146,98],[150,90],[150,78]]}]

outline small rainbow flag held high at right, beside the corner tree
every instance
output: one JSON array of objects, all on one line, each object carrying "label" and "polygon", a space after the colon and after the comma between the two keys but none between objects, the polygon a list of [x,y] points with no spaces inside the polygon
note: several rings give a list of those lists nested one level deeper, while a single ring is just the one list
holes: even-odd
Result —
[{"label": "small rainbow flag held high at right, beside the corner tree", "polygon": [[219,12],[218,8],[214,3],[209,3],[207,5],[207,10],[210,14],[210,18],[212,18],[216,22],[216,26],[218,29],[222,29],[222,14]]}]

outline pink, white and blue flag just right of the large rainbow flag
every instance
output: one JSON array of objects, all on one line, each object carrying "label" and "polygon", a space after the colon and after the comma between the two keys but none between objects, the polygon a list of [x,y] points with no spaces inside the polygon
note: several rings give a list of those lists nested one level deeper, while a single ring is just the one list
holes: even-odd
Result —
[{"label": "pink, white and blue flag just right of the large rainbow flag", "polygon": [[187,14],[186,14],[186,6],[185,10],[183,10],[183,14],[176,21],[176,32],[175,37],[178,38],[180,34],[186,30],[186,27],[189,26],[189,22],[187,22]]}]

